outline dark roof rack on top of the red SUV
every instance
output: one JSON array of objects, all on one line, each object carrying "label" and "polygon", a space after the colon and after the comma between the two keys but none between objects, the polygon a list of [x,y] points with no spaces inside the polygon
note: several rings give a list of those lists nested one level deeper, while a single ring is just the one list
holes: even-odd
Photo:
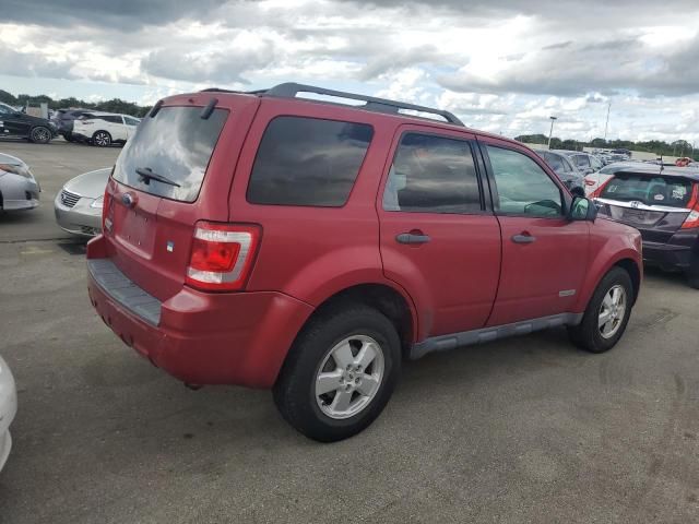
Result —
[{"label": "dark roof rack on top of the red SUV", "polygon": [[[406,104],[404,102],[389,100],[386,98],[378,98],[376,96],[347,93],[344,91],[327,90],[324,87],[318,87],[315,85],[306,85],[306,84],[297,84],[295,82],[286,82],[284,84],[279,84],[269,90],[248,91],[248,92],[218,90],[216,87],[202,90],[202,93],[213,93],[213,92],[245,93],[247,95],[274,96],[279,98],[296,98],[296,95],[298,95],[299,93],[313,93],[317,95],[335,96],[339,98],[348,98],[352,100],[366,102],[365,105],[357,106],[357,107],[359,109],[366,109],[367,111],[386,112],[386,114],[392,114],[392,115],[404,115],[404,114],[401,114],[400,111],[401,109],[405,109],[410,111],[437,115],[443,118],[447,121],[447,123],[464,127],[464,123],[461,120],[459,120],[459,118],[457,118],[455,115],[449,111],[445,111],[442,109],[435,109],[434,107],[418,106],[415,104]],[[304,99],[307,99],[310,102],[320,102],[320,103],[325,102],[325,100],[316,100],[313,98],[304,98]],[[413,115],[405,115],[405,116],[413,116]],[[417,118],[424,118],[424,117],[417,116]]]}]

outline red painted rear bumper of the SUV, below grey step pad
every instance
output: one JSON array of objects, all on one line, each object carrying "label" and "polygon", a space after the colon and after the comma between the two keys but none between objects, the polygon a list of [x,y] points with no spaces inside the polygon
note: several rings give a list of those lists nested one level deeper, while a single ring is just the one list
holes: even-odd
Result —
[{"label": "red painted rear bumper of the SUV, below grey step pad", "polygon": [[98,284],[87,262],[90,299],[104,322],[155,366],[190,384],[271,388],[312,312],[281,293],[211,294],[182,287],[161,303],[154,325],[152,317],[149,321],[125,307],[104,281]]}]

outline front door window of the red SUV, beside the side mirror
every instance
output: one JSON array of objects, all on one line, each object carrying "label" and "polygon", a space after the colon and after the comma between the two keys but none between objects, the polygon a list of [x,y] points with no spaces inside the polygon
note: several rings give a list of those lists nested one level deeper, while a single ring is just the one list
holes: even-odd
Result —
[{"label": "front door window of the red SUV, beside the side mirror", "polygon": [[522,153],[488,145],[500,213],[560,216],[560,190],[538,164]]}]

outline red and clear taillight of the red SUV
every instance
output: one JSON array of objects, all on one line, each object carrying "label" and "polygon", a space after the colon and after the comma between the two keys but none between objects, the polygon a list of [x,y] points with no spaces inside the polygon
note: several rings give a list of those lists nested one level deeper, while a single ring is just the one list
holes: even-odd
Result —
[{"label": "red and clear taillight of the red SUV", "polygon": [[187,267],[187,284],[206,290],[245,287],[262,228],[251,224],[198,222]]}]

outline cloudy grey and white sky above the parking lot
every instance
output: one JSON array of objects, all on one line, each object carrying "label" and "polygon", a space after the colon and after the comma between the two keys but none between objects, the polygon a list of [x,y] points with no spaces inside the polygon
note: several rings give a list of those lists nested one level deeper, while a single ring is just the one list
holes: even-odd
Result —
[{"label": "cloudy grey and white sky above the parking lot", "polygon": [[153,104],[315,83],[514,136],[699,144],[699,1],[0,0],[0,88]]}]

